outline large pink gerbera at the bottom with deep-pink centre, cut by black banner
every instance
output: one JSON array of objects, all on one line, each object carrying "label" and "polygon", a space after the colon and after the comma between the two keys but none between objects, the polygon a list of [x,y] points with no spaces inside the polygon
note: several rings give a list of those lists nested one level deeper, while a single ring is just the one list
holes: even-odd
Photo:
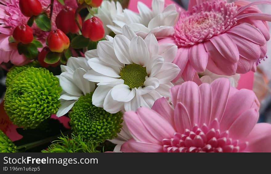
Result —
[{"label": "large pink gerbera at the bottom with deep-pink centre, cut by black banner", "polygon": [[226,78],[198,86],[188,81],[170,90],[152,109],[124,113],[132,139],[122,152],[271,152],[271,125],[257,123],[259,102]]}]

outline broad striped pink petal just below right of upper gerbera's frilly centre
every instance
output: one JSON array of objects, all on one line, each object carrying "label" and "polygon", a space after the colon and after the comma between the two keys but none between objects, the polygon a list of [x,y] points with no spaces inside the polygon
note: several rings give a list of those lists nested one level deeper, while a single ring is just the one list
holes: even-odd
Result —
[{"label": "broad striped pink petal just below right of upper gerbera's frilly centre", "polygon": [[239,52],[237,46],[228,34],[224,33],[212,37],[210,38],[210,41],[225,59],[233,63],[238,61]]}]

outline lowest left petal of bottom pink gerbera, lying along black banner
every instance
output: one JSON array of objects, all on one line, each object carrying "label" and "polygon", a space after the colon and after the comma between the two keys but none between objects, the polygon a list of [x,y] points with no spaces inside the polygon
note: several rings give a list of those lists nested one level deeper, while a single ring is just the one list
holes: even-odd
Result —
[{"label": "lowest left petal of bottom pink gerbera, lying along black banner", "polygon": [[164,152],[163,146],[152,143],[137,142],[131,139],[120,148],[121,152]]}]

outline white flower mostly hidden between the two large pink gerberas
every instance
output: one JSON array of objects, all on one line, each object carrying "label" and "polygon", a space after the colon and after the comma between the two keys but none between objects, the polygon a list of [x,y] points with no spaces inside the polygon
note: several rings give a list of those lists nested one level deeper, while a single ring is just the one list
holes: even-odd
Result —
[{"label": "white flower mostly hidden between the two large pink gerberas", "polygon": [[[218,75],[215,73],[210,72],[208,69],[206,69],[203,73],[199,73],[200,76],[200,81],[202,83],[209,83],[211,84],[212,81],[218,79],[218,78],[228,78],[231,85],[236,88],[238,85],[238,80],[240,78],[240,74],[235,74],[232,76],[223,76],[223,75]],[[178,79],[178,81],[176,81],[175,83],[173,83],[174,85],[181,85],[182,83],[184,83],[184,79],[182,79],[180,77],[180,79]]]}]

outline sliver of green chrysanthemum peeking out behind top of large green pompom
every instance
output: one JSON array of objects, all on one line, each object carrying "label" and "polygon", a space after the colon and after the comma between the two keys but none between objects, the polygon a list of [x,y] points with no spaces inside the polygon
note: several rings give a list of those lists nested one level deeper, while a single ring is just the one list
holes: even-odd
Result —
[{"label": "sliver of green chrysanthemum peeking out behind top of large green pompom", "polygon": [[15,65],[12,66],[12,68],[10,68],[10,71],[6,74],[6,86],[8,87],[14,81],[14,78],[22,71],[26,70],[29,67],[37,66],[38,66],[37,61],[32,61],[31,63],[24,66],[15,66]]}]

